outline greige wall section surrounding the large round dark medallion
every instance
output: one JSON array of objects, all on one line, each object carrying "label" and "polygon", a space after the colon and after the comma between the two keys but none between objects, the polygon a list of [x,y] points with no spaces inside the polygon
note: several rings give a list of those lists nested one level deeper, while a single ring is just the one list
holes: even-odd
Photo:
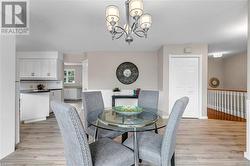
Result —
[{"label": "greige wall section surrounding the large round dark medallion", "polygon": [[[88,52],[89,89],[158,89],[158,57],[156,52]],[[137,81],[124,85],[116,78],[116,69],[132,62],[139,69]]]}]

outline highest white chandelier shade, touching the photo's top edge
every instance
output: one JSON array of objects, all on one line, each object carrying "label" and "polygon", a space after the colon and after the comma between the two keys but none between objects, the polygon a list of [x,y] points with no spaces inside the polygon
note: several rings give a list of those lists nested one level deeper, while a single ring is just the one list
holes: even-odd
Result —
[{"label": "highest white chandelier shade, touching the photo's top edge", "polygon": [[130,0],[129,14],[131,17],[141,16],[143,14],[143,0]]}]

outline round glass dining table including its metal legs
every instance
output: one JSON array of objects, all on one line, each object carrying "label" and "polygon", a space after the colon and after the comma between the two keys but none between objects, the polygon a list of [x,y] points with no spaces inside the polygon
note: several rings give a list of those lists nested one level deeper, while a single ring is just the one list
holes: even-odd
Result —
[{"label": "round glass dining table including its metal legs", "polygon": [[89,125],[96,127],[95,138],[98,138],[98,129],[132,133],[135,166],[139,165],[138,133],[157,131],[167,125],[167,119],[163,118],[163,112],[158,109],[143,108],[142,112],[137,114],[122,114],[113,107],[101,113],[97,111],[90,114],[91,117],[96,117],[88,120]]}]

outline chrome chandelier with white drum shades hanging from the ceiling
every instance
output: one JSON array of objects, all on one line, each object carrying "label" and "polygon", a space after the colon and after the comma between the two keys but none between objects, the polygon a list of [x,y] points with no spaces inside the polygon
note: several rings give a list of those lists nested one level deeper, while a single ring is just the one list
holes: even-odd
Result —
[{"label": "chrome chandelier with white drum shades hanging from the ceiling", "polygon": [[[126,23],[123,27],[119,26],[120,14],[119,8],[110,5],[106,8],[107,29],[112,35],[112,40],[119,39],[123,35],[125,41],[131,43],[133,36],[147,38],[147,33],[152,25],[152,17],[144,14],[143,0],[126,0]],[[133,19],[133,22],[130,19]]]}]

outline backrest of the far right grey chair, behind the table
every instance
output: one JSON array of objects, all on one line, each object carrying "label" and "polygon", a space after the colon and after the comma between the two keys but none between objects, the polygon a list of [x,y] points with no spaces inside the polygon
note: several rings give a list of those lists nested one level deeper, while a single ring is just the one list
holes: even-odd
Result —
[{"label": "backrest of the far right grey chair, behind the table", "polygon": [[159,91],[141,90],[138,97],[138,106],[153,110],[158,109]]}]

